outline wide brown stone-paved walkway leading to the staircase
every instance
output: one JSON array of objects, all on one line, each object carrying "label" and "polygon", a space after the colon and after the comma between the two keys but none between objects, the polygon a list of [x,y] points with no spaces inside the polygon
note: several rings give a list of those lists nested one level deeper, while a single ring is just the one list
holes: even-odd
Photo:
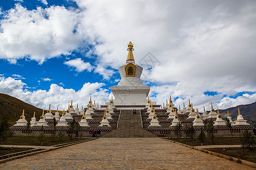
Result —
[{"label": "wide brown stone-paved walkway leading to the staircase", "polygon": [[0,164],[0,169],[253,169],[160,138],[100,138]]}]

